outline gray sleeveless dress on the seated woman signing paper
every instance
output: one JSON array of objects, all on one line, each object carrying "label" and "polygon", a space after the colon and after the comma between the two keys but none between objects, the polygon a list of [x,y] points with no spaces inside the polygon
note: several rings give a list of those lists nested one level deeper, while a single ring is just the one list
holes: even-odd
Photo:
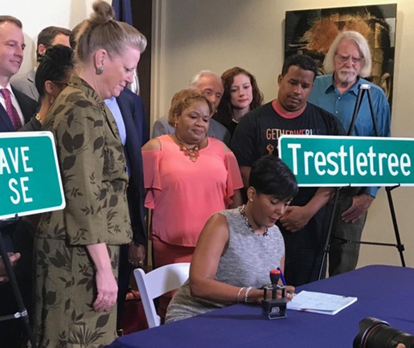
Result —
[{"label": "gray sleeveless dress on the seated woman signing paper", "polygon": [[[220,258],[215,279],[237,287],[269,284],[270,269],[279,267],[284,255],[284,240],[279,228],[269,228],[268,235],[262,237],[247,227],[238,208],[218,214],[224,215],[229,223],[229,244]],[[231,304],[192,296],[190,280],[187,280],[169,303],[165,322],[176,322]]]}]

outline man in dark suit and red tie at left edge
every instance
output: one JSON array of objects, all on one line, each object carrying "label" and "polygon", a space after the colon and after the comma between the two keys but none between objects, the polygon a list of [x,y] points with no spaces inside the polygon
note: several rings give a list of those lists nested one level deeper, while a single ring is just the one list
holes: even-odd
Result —
[{"label": "man in dark suit and red tie at left edge", "polygon": [[[0,132],[15,132],[36,112],[37,103],[10,86],[10,77],[20,69],[23,61],[24,35],[22,22],[11,16],[0,15]],[[31,309],[31,245],[30,235],[20,219],[0,228],[7,251],[20,252],[15,274],[26,308]],[[10,284],[0,286],[0,316],[15,313],[15,302]],[[5,347],[20,347],[24,340],[19,320],[0,322],[1,342]]]}]

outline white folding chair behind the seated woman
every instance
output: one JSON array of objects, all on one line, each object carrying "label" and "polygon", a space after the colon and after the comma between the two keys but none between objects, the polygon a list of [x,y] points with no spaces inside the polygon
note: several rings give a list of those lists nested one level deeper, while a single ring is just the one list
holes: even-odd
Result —
[{"label": "white folding chair behind the seated woman", "polygon": [[151,329],[160,326],[160,316],[154,306],[154,299],[181,287],[190,274],[190,262],[167,264],[151,272],[145,273],[143,269],[134,269],[135,281],[138,285],[142,306],[148,327]]}]

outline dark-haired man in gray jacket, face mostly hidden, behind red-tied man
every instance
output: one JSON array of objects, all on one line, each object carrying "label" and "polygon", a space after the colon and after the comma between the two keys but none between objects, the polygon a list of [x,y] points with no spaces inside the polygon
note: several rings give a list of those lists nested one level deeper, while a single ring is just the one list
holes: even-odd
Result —
[{"label": "dark-haired man in gray jacket, face mostly hidden, behind red-tied man", "polygon": [[17,90],[28,95],[31,99],[39,99],[39,93],[35,86],[35,74],[40,61],[45,55],[46,50],[54,45],[69,45],[70,30],[66,28],[60,28],[59,26],[47,26],[47,28],[40,31],[38,35],[38,46],[36,48],[36,66],[29,72],[24,74],[15,75],[11,79],[11,84]]}]

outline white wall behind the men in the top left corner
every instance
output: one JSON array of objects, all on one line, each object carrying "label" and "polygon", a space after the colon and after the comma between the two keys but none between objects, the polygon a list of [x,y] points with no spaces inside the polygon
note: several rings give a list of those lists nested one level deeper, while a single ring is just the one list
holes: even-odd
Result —
[{"label": "white wall behind the men in the top left corner", "polygon": [[[111,0],[106,0],[111,3]],[[22,21],[24,59],[20,72],[33,68],[38,33],[46,26],[72,29],[92,12],[93,0],[1,0],[1,15],[12,15]]]}]

